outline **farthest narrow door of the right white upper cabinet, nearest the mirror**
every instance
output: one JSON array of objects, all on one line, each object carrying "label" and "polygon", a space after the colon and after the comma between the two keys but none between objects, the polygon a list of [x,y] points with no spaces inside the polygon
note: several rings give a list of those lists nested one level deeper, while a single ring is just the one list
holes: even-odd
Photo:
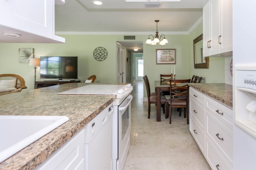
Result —
[{"label": "farthest narrow door of the right white upper cabinet, nearest the mirror", "polygon": [[203,8],[203,57],[210,56],[210,1]]}]

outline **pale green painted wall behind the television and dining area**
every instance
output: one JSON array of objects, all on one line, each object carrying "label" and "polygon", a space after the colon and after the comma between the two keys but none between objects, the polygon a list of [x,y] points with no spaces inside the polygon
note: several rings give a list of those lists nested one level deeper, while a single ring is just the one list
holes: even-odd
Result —
[{"label": "pale green painted wall behind the television and dining area", "polygon": [[[224,58],[210,58],[209,69],[194,69],[193,39],[201,33],[202,24],[190,35],[166,35],[169,43],[165,46],[143,44],[144,74],[149,77],[152,91],[154,91],[154,80],[160,80],[160,74],[169,74],[171,66],[174,65],[176,67],[176,78],[190,78],[193,74],[196,74],[203,76],[207,83],[224,83]],[[66,43],[0,43],[0,74],[18,74],[24,78],[28,87],[24,91],[33,89],[34,68],[28,66],[28,63],[18,62],[18,49],[34,48],[35,58],[58,55],[78,56],[78,78],[81,81],[95,74],[100,77],[101,82],[116,82],[116,41],[124,41],[123,35],[60,36],[66,38]],[[147,38],[148,35],[136,35],[136,41],[145,42]],[[96,47],[107,49],[108,57],[106,60],[96,61],[93,58],[92,54]],[[176,49],[176,64],[156,64],[156,49]],[[131,54],[128,53],[128,56],[131,56]],[[37,69],[37,80],[40,80],[39,69]],[[126,80],[131,78],[126,77]],[[146,91],[144,91],[144,96],[146,96]]]}]

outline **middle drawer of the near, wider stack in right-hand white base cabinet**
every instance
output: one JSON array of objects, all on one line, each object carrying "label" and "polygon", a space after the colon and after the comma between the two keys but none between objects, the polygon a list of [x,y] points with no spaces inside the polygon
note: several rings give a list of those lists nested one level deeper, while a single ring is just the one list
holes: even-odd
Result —
[{"label": "middle drawer of the near, wider stack in right-hand white base cabinet", "polygon": [[206,137],[218,148],[226,161],[232,164],[233,132],[216,117],[206,111]]}]

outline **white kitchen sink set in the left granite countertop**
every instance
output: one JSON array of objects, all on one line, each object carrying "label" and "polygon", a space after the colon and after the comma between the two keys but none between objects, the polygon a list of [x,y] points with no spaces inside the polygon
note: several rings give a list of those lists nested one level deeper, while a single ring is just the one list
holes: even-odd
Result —
[{"label": "white kitchen sink set in the left granite countertop", "polygon": [[0,115],[0,162],[68,120],[67,116]]}]

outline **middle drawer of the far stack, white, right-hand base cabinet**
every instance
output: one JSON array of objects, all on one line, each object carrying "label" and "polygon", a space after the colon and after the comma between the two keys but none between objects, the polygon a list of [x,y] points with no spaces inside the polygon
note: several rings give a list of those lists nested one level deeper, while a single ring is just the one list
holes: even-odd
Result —
[{"label": "middle drawer of the far stack, white, right-hand base cabinet", "polygon": [[193,115],[194,118],[198,121],[198,125],[202,131],[204,131],[205,127],[205,109],[196,103],[192,98],[189,100],[189,112],[190,115]]}]

